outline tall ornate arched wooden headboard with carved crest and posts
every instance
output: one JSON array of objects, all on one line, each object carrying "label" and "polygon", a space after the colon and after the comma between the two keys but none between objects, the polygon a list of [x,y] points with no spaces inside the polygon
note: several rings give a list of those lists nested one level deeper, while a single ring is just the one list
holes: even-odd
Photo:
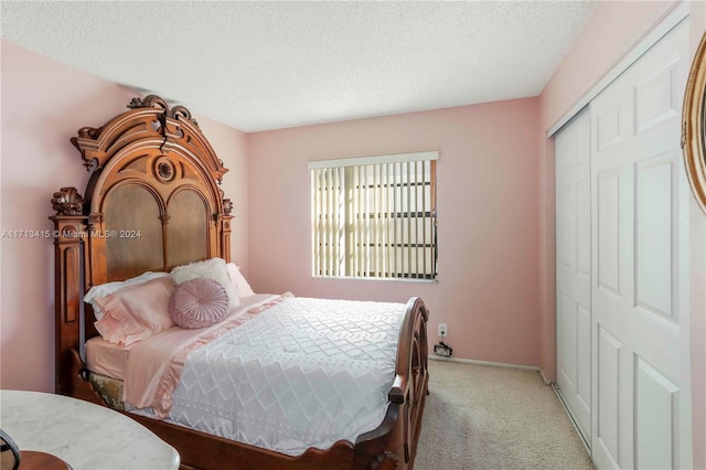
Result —
[{"label": "tall ornate arched wooden headboard with carved crest and posts", "polygon": [[[56,391],[67,354],[97,334],[82,297],[92,286],[211,257],[231,260],[231,211],[218,188],[223,167],[183,106],[133,98],[99,128],[71,139],[93,171],[84,196],[54,193]],[[84,323],[82,327],[82,322]]]}]

